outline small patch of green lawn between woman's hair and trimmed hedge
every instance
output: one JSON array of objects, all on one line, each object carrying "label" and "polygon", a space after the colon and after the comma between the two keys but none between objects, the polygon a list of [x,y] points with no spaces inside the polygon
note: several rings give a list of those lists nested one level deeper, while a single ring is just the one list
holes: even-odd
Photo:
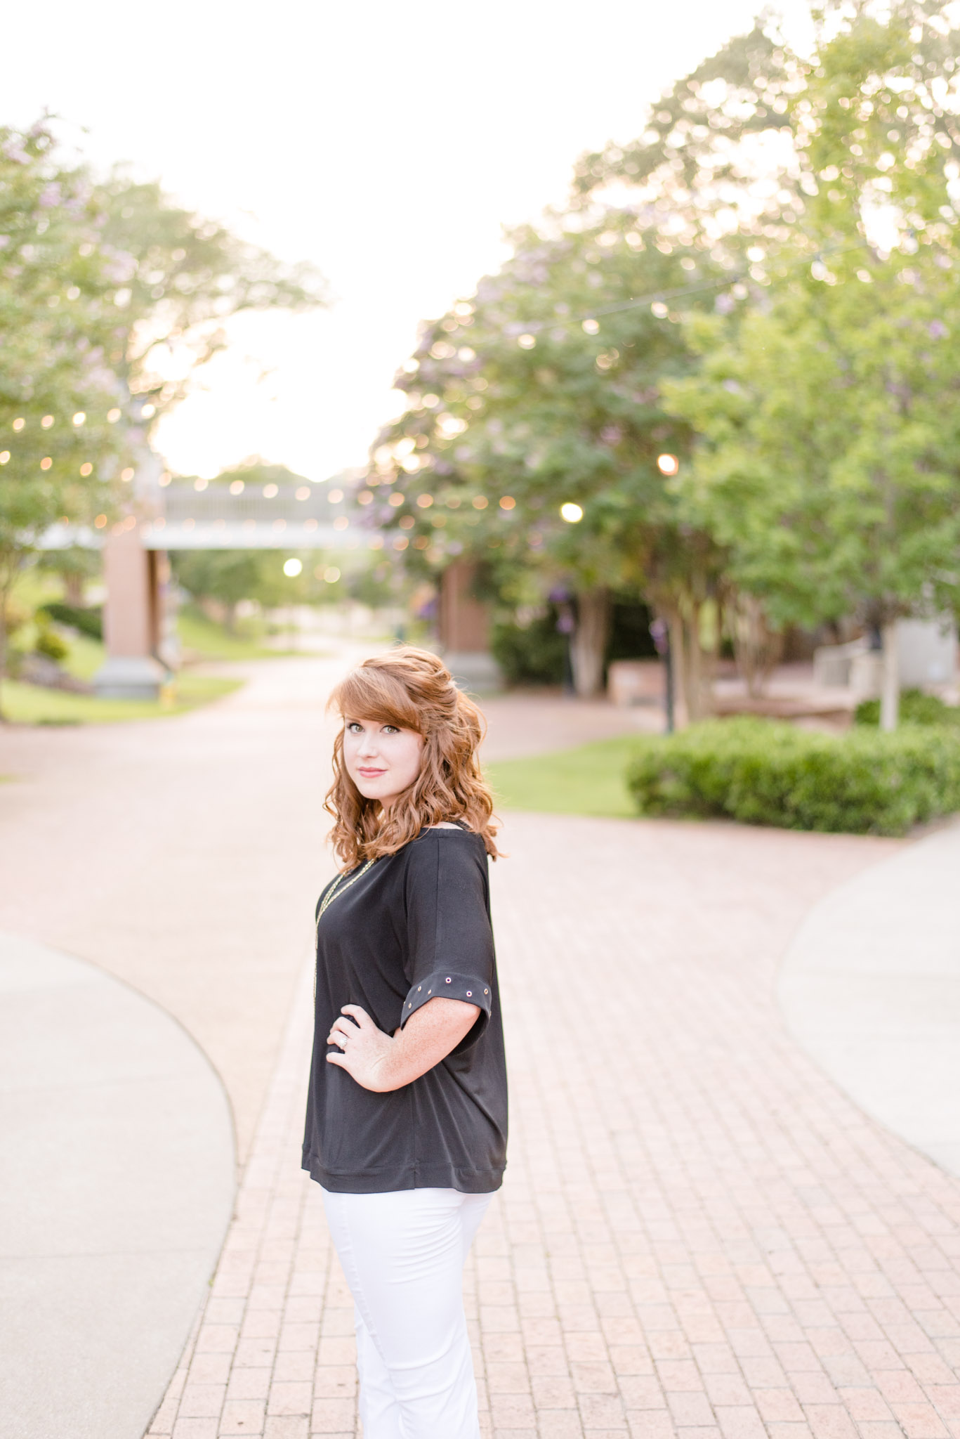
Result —
[{"label": "small patch of green lawn between woman's hair and trimmed hedge", "polygon": [[501,760],[484,773],[499,809],[632,819],[636,806],[623,773],[635,745],[632,735],[622,735],[530,760]]}]

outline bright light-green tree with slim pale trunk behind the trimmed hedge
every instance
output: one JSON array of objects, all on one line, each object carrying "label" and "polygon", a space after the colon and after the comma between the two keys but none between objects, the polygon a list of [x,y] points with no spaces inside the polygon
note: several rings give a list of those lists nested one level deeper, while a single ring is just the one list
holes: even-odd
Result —
[{"label": "bright light-green tree with slim pale trunk behind the trimmed hedge", "polygon": [[701,371],[666,386],[704,436],[675,488],[725,547],[730,578],[774,623],[859,613],[879,627],[887,728],[897,617],[956,606],[959,131],[944,10],[901,4],[881,20],[859,6],[822,23],[792,101],[805,224],[767,258],[764,305],[692,322]]}]

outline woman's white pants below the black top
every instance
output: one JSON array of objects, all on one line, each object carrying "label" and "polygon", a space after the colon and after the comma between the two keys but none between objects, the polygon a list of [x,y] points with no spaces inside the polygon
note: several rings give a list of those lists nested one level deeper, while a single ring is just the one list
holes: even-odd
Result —
[{"label": "woman's white pants below the black top", "polygon": [[479,1439],[462,1276],[492,1194],[322,1194],[356,1305],[364,1439]]}]

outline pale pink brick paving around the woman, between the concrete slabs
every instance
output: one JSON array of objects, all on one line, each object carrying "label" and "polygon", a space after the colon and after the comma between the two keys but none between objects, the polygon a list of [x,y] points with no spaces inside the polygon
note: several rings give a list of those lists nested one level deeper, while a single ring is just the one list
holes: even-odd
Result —
[{"label": "pale pink brick paving around the woman, between the concrete slabs", "polygon": [[[773,1000],[805,911],[894,846],[515,816],[507,848],[511,1156],[466,1274],[484,1433],[960,1439],[960,1183]],[[351,1305],[298,1171],[308,1045],[305,977],[151,1436],[358,1432]]]}]

